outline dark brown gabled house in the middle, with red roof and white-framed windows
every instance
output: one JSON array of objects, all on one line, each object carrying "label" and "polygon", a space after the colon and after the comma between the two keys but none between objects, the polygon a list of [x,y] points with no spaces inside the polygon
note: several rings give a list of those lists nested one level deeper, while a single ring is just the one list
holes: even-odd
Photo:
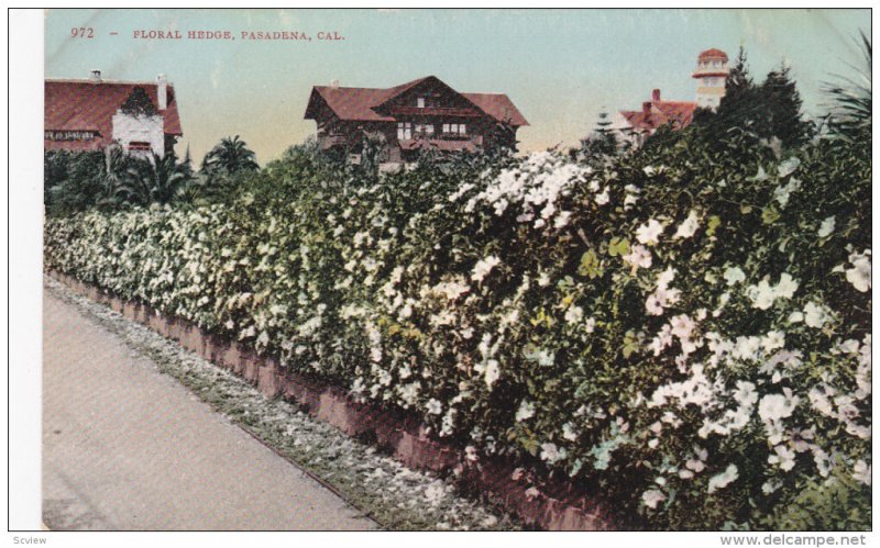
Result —
[{"label": "dark brown gabled house in the middle, with red roof and white-framed windows", "polygon": [[391,163],[426,149],[516,149],[516,132],[528,125],[506,94],[462,93],[435,76],[394,88],[315,86],[305,119],[318,124],[324,150],[358,150],[365,135],[382,135]]}]

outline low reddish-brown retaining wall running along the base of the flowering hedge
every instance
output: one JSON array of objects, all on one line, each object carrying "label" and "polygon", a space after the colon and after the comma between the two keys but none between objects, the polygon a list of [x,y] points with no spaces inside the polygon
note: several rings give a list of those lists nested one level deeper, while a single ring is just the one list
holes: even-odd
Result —
[{"label": "low reddish-brown retaining wall running along the base of the flowering hedge", "polygon": [[50,276],[88,299],[109,305],[161,335],[178,342],[206,360],[233,371],[267,398],[284,398],[350,436],[372,438],[395,459],[414,469],[454,471],[490,497],[501,501],[524,522],[547,530],[614,528],[607,514],[587,493],[560,481],[536,481],[531,472],[517,473],[512,462],[482,457],[469,461],[464,451],[433,439],[417,420],[402,418],[375,405],[359,403],[338,387],[326,385],[282,368],[273,358],[228,343],[186,320],[166,316],[148,305],[123,301],[56,271]]}]

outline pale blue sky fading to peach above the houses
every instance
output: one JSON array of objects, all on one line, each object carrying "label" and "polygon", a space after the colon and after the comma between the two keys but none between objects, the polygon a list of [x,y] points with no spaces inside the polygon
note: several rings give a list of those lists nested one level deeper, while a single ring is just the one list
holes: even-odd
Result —
[{"label": "pale blue sky fading to peach above the houses", "polygon": [[[576,144],[601,112],[636,110],[654,88],[663,99],[693,101],[696,57],[712,47],[733,59],[743,46],[759,81],[788,64],[804,111],[821,115],[822,82],[853,74],[870,16],[868,9],[50,10],[45,76],[166,75],[184,130],[177,152],[189,147],[197,163],[231,135],[261,165],[302,143],[316,130],[302,118],[312,86],[387,88],[428,75],[462,92],[506,93],[530,124],[517,134],[520,150],[542,150]],[[79,27],[94,37],[74,37]],[[134,37],[139,31],[184,38]],[[188,31],[230,31],[235,40],[187,40]],[[311,40],[243,40],[249,31]]]}]

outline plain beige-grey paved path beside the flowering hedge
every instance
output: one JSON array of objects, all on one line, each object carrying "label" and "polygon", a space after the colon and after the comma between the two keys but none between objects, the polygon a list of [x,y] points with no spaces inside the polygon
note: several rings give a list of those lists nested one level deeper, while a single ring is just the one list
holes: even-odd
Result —
[{"label": "plain beige-grey paved path beside the flowering hedge", "polygon": [[369,529],[336,494],[44,291],[51,529]]}]

